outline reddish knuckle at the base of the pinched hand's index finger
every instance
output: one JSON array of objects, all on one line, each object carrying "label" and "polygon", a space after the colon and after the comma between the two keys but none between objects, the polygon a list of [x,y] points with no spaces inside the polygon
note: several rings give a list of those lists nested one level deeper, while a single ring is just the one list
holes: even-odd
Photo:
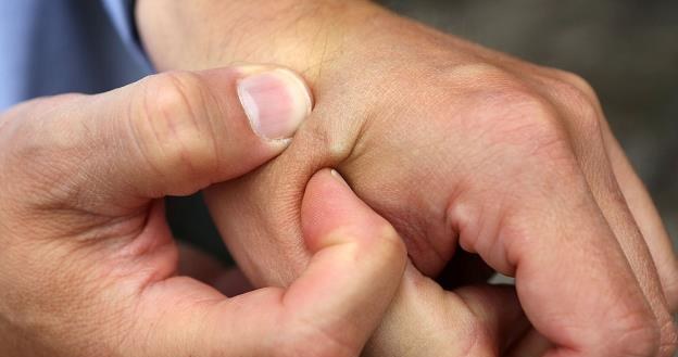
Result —
[{"label": "reddish knuckle at the base of the pinched hand's index finger", "polygon": [[[512,190],[543,194],[563,184],[579,184],[579,164],[568,131],[555,107],[544,98],[522,88],[492,93],[485,123],[484,155],[501,162],[492,177],[511,176]],[[503,183],[498,187],[504,187]],[[511,196],[513,197],[513,196]]]}]

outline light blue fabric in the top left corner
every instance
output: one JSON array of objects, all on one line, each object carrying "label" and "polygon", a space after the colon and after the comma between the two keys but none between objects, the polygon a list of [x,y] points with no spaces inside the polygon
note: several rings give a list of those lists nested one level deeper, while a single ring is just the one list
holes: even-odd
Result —
[{"label": "light blue fabric in the top left corner", "polygon": [[152,73],[133,2],[0,1],[0,111],[35,97],[102,92]]}]

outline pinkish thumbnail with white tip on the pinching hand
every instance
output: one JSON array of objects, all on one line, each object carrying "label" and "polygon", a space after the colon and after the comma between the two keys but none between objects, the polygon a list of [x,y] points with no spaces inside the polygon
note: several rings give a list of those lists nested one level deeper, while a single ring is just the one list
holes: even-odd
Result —
[{"label": "pinkish thumbnail with white tip on the pinching hand", "polygon": [[282,68],[246,75],[238,81],[238,97],[252,129],[265,139],[291,138],[313,107],[303,79]]}]

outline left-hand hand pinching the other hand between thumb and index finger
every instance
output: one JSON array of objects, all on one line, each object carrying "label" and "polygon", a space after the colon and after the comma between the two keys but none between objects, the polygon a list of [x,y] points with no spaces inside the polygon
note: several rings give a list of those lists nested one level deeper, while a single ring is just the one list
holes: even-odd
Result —
[{"label": "left-hand hand pinching the other hand between thumb and index finger", "polygon": [[304,226],[313,259],[299,279],[234,298],[176,276],[163,213],[165,195],[279,154],[309,98],[289,71],[239,67],[4,113],[0,355],[356,356],[405,265],[400,238],[364,204],[316,204]]}]

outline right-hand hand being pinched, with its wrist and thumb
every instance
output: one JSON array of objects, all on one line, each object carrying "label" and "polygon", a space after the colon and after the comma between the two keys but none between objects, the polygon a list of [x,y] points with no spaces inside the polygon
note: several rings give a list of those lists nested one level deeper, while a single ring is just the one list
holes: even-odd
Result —
[{"label": "right-hand hand being pinched, with its wrist and thumb", "polygon": [[[313,85],[314,113],[290,148],[208,202],[254,284],[286,286],[310,257],[304,188],[337,168],[412,258],[365,354],[676,349],[676,256],[581,78],[367,1],[141,0],[137,16],[160,69],[275,62]],[[427,278],[460,247],[515,277],[515,292]],[[520,311],[516,333],[506,321]]]}]

